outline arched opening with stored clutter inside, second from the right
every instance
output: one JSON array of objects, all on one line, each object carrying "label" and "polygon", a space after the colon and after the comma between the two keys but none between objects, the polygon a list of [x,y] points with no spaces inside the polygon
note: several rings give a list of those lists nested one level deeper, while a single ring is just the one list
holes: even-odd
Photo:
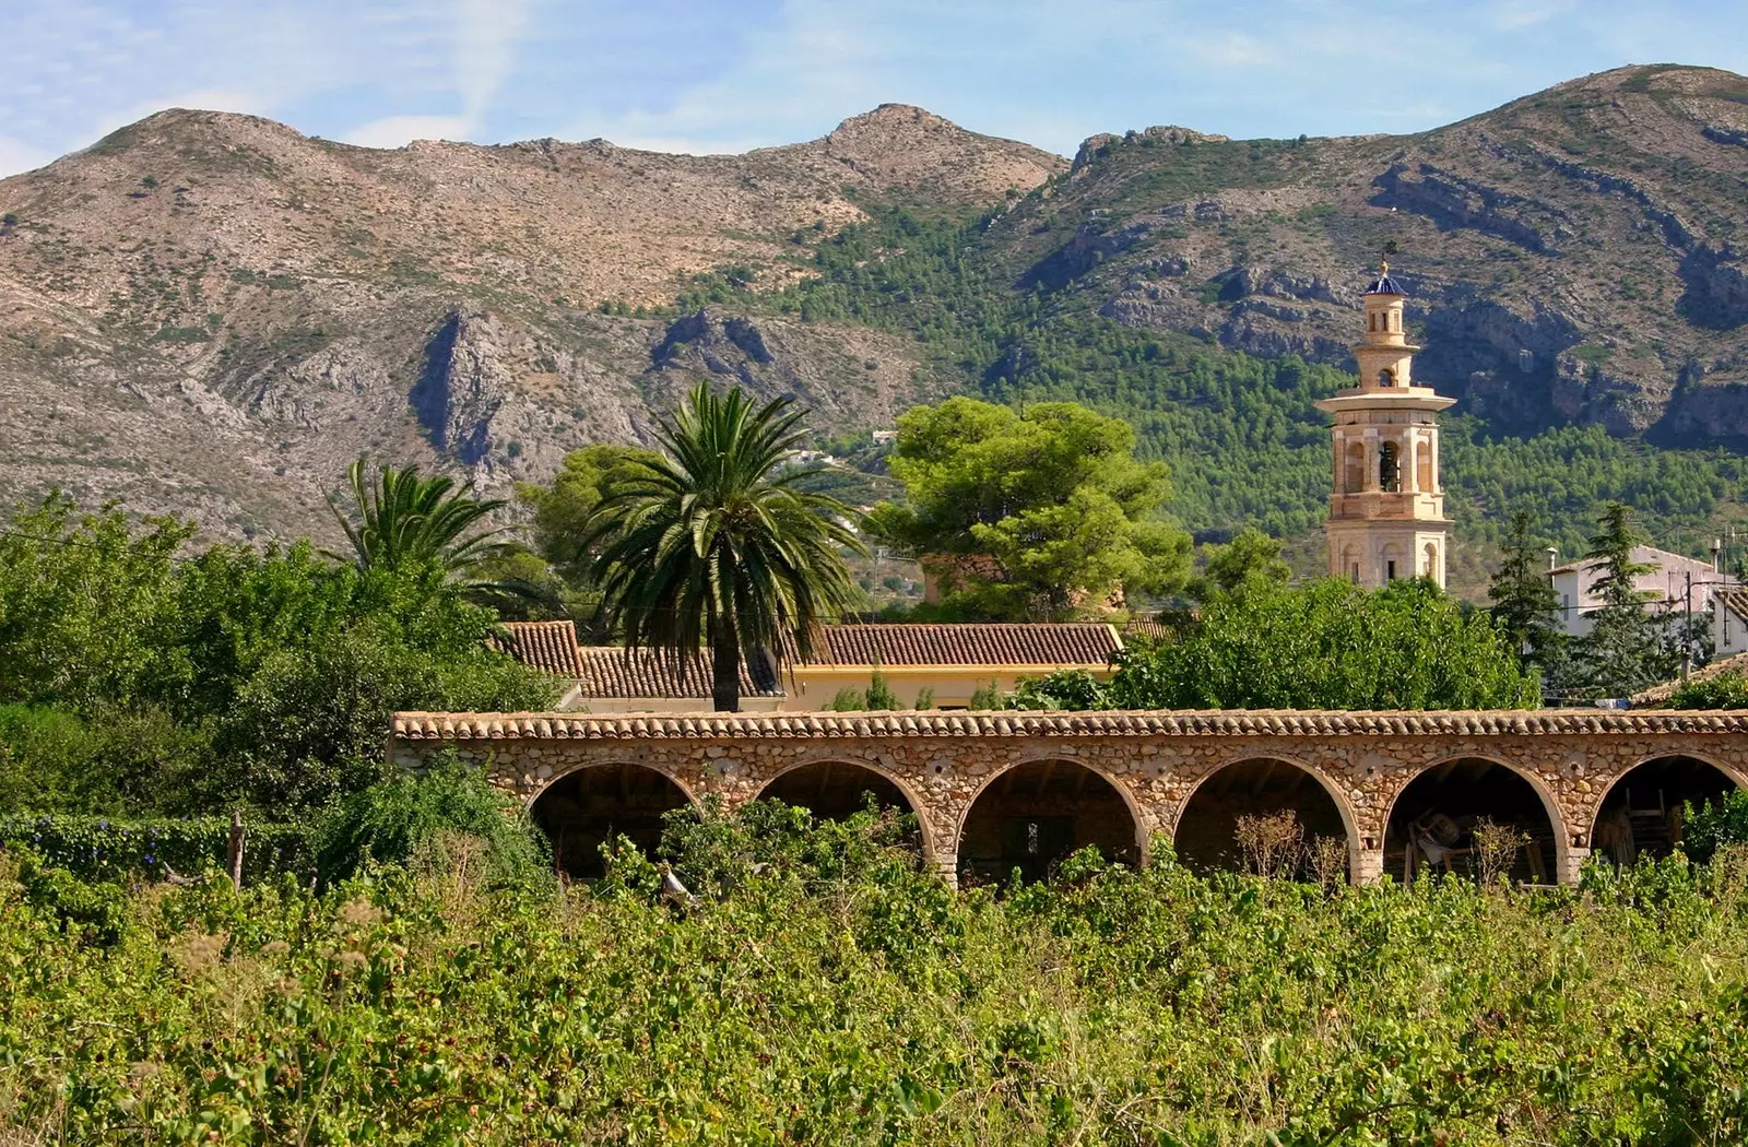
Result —
[{"label": "arched opening with stored clutter inside, second from the right", "polygon": [[[1451,783],[1456,785],[1454,792],[1439,794],[1432,789]],[[1458,827],[1454,843],[1458,852],[1449,859],[1453,869],[1470,867],[1467,864],[1470,853],[1461,852],[1461,846],[1472,843],[1468,838],[1472,822],[1488,817],[1498,824],[1512,824],[1533,838],[1519,850],[1512,879],[1554,883],[1568,879],[1568,874],[1577,876],[1571,829],[1552,790],[1531,769],[1484,754],[1444,757],[1418,769],[1397,790],[1384,817],[1386,872],[1404,876],[1426,864],[1426,853],[1414,850],[1407,829],[1414,822],[1426,822],[1433,813],[1442,813]],[[1465,864],[1458,865],[1458,860]]]}]

